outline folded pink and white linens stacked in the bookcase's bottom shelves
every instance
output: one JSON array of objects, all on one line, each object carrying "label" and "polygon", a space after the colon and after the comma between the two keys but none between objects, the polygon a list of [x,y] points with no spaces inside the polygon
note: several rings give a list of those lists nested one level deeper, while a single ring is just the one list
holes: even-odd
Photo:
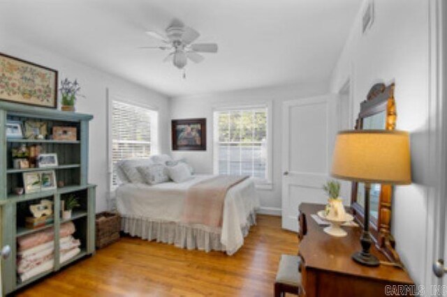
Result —
[{"label": "folded pink and white linens stacked in the bookcase's bottom shelves", "polygon": [[[73,238],[75,224],[66,222],[59,229],[59,262],[64,263],[80,253],[80,241]],[[54,229],[17,238],[17,273],[22,282],[54,266]]]}]

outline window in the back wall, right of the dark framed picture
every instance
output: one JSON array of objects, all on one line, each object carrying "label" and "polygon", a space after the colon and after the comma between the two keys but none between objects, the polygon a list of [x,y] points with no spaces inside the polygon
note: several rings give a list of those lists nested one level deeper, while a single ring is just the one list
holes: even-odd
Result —
[{"label": "window in the back wall, right of the dark framed picture", "polygon": [[268,107],[214,111],[214,174],[249,175],[270,183]]}]

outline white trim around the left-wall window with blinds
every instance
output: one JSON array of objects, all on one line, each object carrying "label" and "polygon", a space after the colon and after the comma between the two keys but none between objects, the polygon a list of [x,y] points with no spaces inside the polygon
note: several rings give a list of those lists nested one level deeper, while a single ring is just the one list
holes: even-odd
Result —
[{"label": "white trim around the left-wall window with blinds", "polygon": [[[155,107],[152,105],[146,105],[146,104],[142,104],[140,102],[138,102],[138,100],[134,100],[132,97],[130,96],[126,96],[124,94],[120,94],[120,93],[115,93],[115,92],[110,92],[110,89],[106,88],[106,97],[107,97],[107,155],[108,155],[108,184],[109,184],[109,197],[110,199],[114,199],[115,198],[115,190],[117,188],[116,185],[113,185],[113,161],[112,161],[112,142],[113,142],[113,137],[112,137],[112,102],[122,102],[122,103],[126,103],[129,105],[135,105],[138,107],[142,107],[145,109],[150,109],[154,112],[159,112],[159,107]],[[156,155],[159,153],[159,137],[160,137],[160,116],[157,116],[157,127],[154,130],[155,131],[155,135],[151,135],[151,150],[152,147],[154,147],[154,152],[153,154]]]}]

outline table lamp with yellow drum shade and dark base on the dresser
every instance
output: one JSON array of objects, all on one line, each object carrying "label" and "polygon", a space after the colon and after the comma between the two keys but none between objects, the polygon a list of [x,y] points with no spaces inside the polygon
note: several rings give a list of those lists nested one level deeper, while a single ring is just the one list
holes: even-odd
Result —
[{"label": "table lamp with yellow drum shade and dark base on the dresser", "polygon": [[341,131],[335,141],[332,176],[365,183],[365,222],[360,244],[362,251],[352,255],[365,266],[379,266],[369,253],[369,190],[371,183],[406,185],[411,183],[408,132],[390,130]]}]

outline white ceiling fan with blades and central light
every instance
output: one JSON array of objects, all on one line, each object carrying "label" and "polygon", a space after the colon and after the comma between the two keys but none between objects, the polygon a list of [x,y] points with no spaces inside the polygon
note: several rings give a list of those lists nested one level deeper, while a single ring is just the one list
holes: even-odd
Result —
[{"label": "white ceiling fan with blades and central light", "polygon": [[200,36],[200,33],[189,26],[185,26],[183,22],[177,19],[170,22],[164,35],[156,31],[146,31],[146,34],[161,41],[163,44],[140,48],[172,51],[163,61],[172,61],[174,66],[179,69],[183,69],[186,66],[188,59],[194,63],[203,61],[205,58],[199,52],[215,53],[218,49],[216,43],[193,43]]}]

